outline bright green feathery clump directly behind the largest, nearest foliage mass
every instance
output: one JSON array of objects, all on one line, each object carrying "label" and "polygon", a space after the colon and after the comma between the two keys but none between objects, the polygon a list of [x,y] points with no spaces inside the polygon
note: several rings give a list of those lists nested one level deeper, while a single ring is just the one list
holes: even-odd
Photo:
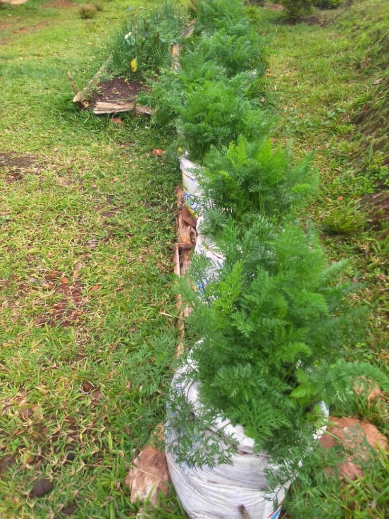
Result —
[{"label": "bright green feathery clump directly behind the largest, nearest foliage mass", "polygon": [[212,148],[204,159],[199,181],[206,205],[241,224],[247,213],[279,222],[315,192],[317,172],[310,168],[311,159],[312,153],[292,166],[289,148],[273,149],[270,139],[250,142],[239,136],[227,150]]}]

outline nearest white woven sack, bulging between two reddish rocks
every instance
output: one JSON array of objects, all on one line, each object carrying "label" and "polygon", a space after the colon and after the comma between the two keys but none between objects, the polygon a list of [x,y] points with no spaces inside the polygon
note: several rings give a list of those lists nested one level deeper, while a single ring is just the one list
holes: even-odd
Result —
[{"label": "nearest white woven sack, bulging between two reddish rocks", "polygon": [[[172,387],[183,391],[186,399],[199,408],[198,383],[183,383],[181,375],[186,369],[178,370],[172,380]],[[261,488],[267,486],[264,473],[269,467],[266,454],[253,454],[254,442],[245,435],[242,426],[232,426],[228,421],[219,419],[215,429],[223,428],[223,434],[234,434],[238,442],[237,453],[233,456],[233,465],[219,465],[210,469],[193,469],[185,463],[177,463],[169,452],[169,445],[177,440],[174,434],[166,439],[166,458],[170,477],[182,506],[191,519],[242,519],[239,507],[247,510],[251,519],[276,519],[280,508],[274,512],[269,494]],[[206,434],[205,434],[206,436]],[[198,439],[197,439],[198,441]],[[279,488],[274,494],[278,502],[284,499],[289,485]]]}]

